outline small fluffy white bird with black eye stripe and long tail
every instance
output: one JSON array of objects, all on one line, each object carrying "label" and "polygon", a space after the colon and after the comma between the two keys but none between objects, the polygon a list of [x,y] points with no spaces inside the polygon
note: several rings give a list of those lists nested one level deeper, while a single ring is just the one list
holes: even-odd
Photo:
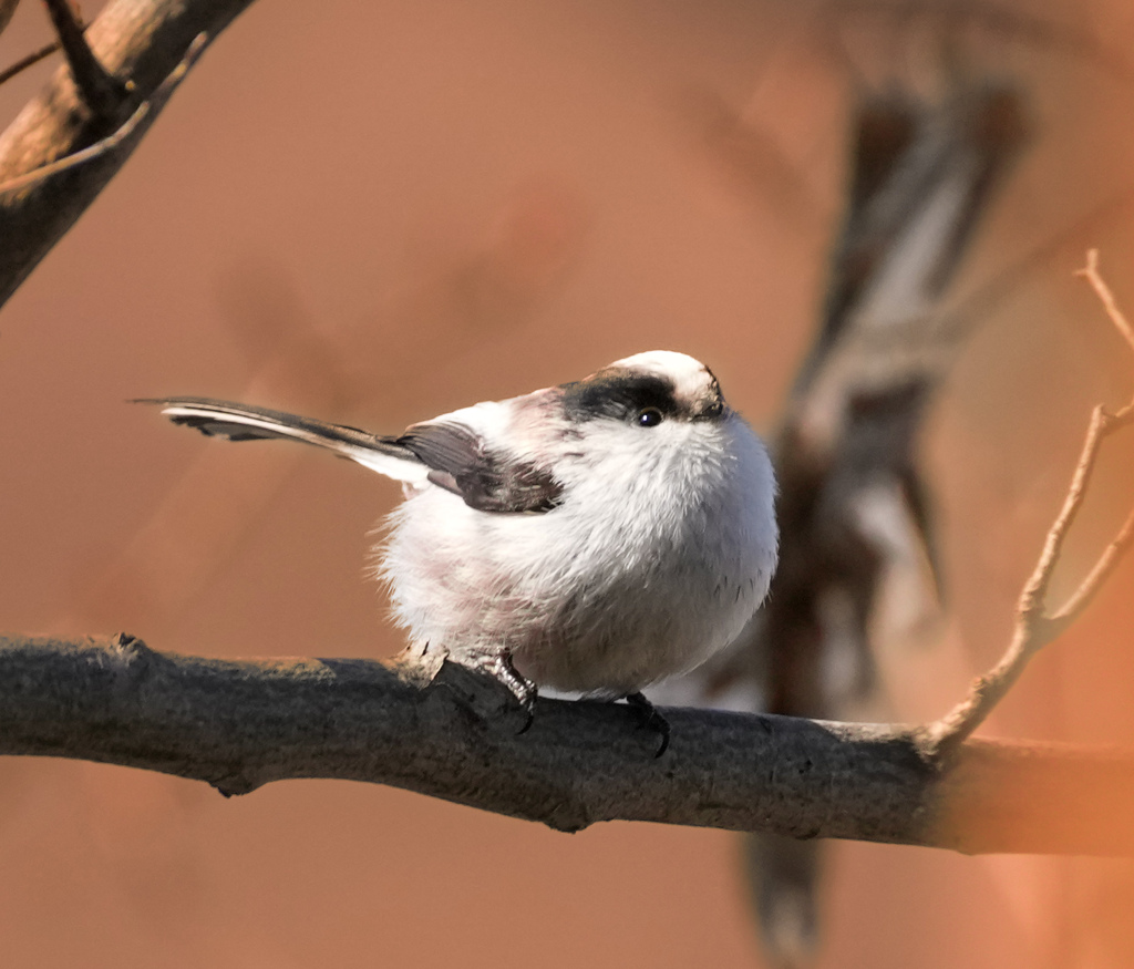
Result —
[{"label": "small fluffy white bird with black eye stripe and long tail", "polygon": [[209,397],[147,398],[234,441],[325,448],[401,482],[375,575],[411,644],[486,673],[531,724],[540,688],[625,699],[726,648],[776,570],[768,450],[700,361],[617,360],[582,380],[381,436]]}]

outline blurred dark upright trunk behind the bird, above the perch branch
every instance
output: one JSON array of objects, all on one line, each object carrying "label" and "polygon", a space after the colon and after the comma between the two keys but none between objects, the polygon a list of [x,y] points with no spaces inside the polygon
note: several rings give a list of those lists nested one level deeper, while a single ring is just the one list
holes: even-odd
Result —
[{"label": "blurred dark upright trunk behind the bird, above the perch branch", "polygon": [[[765,709],[838,717],[874,685],[870,624],[897,553],[923,553],[940,596],[922,421],[963,346],[938,323],[948,285],[1027,135],[1023,94],[888,92],[854,128],[848,204],[819,332],[775,441],[780,563],[754,649]],[[837,657],[852,671],[832,684]]]}]

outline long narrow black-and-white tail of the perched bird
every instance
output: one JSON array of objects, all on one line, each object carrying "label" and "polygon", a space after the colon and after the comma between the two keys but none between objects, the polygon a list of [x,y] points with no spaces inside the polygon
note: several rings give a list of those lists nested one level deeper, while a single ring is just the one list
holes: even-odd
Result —
[{"label": "long narrow black-and-white tail of the perched bird", "polygon": [[282,438],[324,447],[397,481],[423,483],[430,471],[425,462],[393,438],[345,424],[209,397],[162,397],[136,403],[155,404],[175,424],[196,428],[210,437],[229,440]]}]

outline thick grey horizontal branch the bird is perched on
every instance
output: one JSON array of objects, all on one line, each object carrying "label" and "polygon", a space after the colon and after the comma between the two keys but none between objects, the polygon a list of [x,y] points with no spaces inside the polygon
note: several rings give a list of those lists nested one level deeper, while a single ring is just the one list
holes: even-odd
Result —
[{"label": "thick grey horizontal branch the bird is perched on", "polygon": [[449,664],[422,689],[369,660],[179,657],[126,635],[0,639],[6,755],[160,770],[228,794],[291,777],[367,781],[559,831],[624,819],[1134,856],[1129,752],[971,740],[942,772],[900,726],[667,709],[672,743],[655,760],[623,706],[541,699],[517,735],[502,702],[491,681]]}]

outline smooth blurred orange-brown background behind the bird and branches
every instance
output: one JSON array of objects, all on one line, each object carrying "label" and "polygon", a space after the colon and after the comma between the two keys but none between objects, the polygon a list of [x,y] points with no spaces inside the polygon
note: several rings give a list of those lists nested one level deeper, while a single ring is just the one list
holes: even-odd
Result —
[{"label": "smooth blurred orange-brown background behind the bird and branches", "polygon": [[[389,431],[674,348],[771,430],[821,302],[855,85],[932,82],[939,22],[869,6],[253,5],[0,313],[0,625],[209,656],[399,648],[363,579],[395,486],[301,448],[206,441],[128,398]],[[1027,92],[1034,136],[958,292],[1060,244],[976,321],[926,428],[949,608],[883,647],[881,718],[936,716],[998,655],[1090,406],[1134,387],[1072,277],[1099,246],[1134,312],[1128,209],[1082,224],[1134,191],[1134,81],[1068,49],[1072,28],[1131,49],[1134,8],[1016,9],[1066,28],[962,39]],[[23,3],[0,68],[49,40]],[[0,125],[53,69],[0,87]],[[747,166],[712,137],[721,106],[758,135]],[[1134,500],[1129,452],[1106,463],[1065,591]],[[989,733],[1134,743],[1132,575]],[[821,967],[1134,964],[1125,862],[845,843],[826,905]],[[567,836],[348,783],[223,800],[0,760],[5,967],[450,963],[760,966],[737,840]]]}]

